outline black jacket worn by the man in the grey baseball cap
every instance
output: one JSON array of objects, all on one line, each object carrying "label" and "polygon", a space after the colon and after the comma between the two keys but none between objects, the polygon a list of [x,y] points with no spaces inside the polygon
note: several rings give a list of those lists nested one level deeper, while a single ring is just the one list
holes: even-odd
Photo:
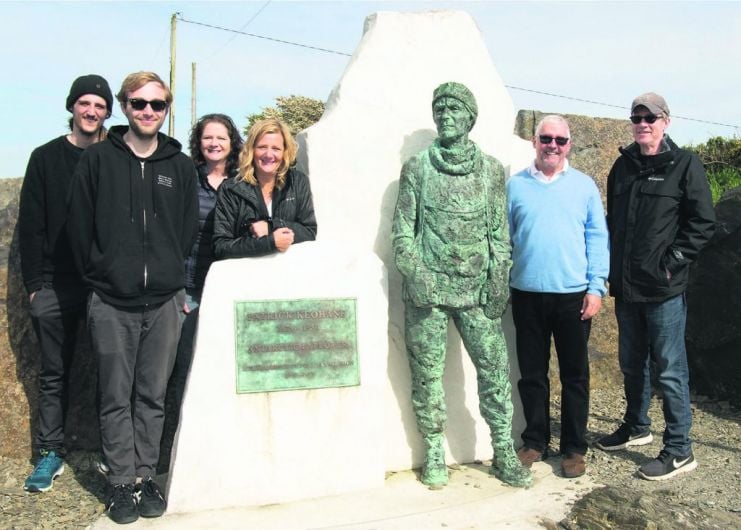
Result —
[{"label": "black jacket worn by the man in the grey baseball cap", "polygon": [[620,148],[607,177],[610,294],[620,301],[662,302],[684,292],[689,264],[715,230],[702,162],[668,136],[664,142],[653,156],[635,143]]}]

